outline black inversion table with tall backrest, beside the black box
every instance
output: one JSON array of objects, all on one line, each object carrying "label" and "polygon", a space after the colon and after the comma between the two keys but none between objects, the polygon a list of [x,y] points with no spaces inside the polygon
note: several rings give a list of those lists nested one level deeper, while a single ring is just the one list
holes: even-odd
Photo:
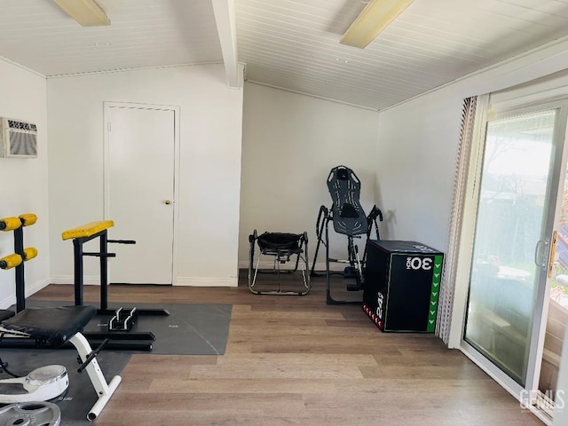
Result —
[{"label": "black inversion table with tall backrest, beside the black box", "polygon": [[[313,257],[312,275],[317,275],[315,265],[319,253],[319,244],[326,247],[326,280],[327,280],[327,304],[359,304],[359,301],[335,300],[331,295],[331,274],[330,263],[349,264],[343,270],[343,277],[355,279],[355,284],[348,284],[348,291],[359,291],[363,289],[363,271],[367,260],[367,241],[373,232],[375,225],[376,239],[379,240],[379,227],[377,217],[383,220],[383,213],[376,206],[369,212],[368,216],[359,202],[361,182],[353,170],[345,166],[337,166],[329,172],[327,177],[327,189],[333,201],[331,208],[326,206],[319,208],[318,221],[316,223],[316,233],[318,245],[316,246],[315,256]],[[347,259],[340,260],[329,257],[329,222],[334,224],[336,233],[347,236]],[[354,239],[367,235],[365,249],[362,257],[359,256],[359,247]]]}]

